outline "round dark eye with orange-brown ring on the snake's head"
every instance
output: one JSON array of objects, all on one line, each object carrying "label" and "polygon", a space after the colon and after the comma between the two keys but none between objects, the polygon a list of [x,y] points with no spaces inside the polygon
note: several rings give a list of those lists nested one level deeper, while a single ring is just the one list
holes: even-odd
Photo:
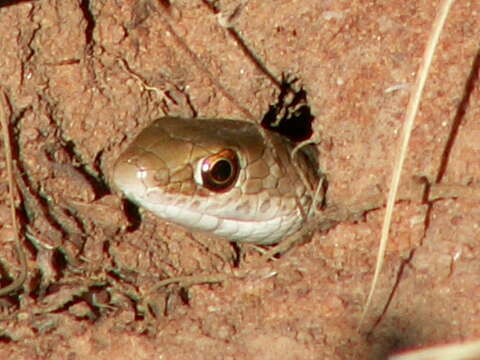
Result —
[{"label": "round dark eye with orange-brown ring on the snake's head", "polygon": [[227,191],[237,180],[240,163],[235,151],[222,150],[203,159],[202,184],[215,192]]}]

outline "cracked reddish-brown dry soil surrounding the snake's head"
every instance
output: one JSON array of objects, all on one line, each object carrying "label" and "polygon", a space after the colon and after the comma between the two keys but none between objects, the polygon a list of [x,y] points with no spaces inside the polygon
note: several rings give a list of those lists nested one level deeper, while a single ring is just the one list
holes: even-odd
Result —
[{"label": "cracked reddish-brown dry soil surrounding the snake's head", "polygon": [[[438,3],[232,0],[217,2],[218,15],[199,0],[0,8],[0,84],[29,233],[28,281],[0,300],[0,358],[385,359],[479,337],[478,1],[457,1],[448,17],[385,268],[357,330],[408,89]],[[254,251],[236,264],[230,244],[141,213],[109,186],[114,159],[155,118],[244,119],[243,107],[261,119],[276,101],[279,89],[222,21],[272,74],[306,90],[327,210],[338,219],[262,267]],[[1,164],[6,285],[18,260],[3,155]],[[154,289],[172,276],[240,270],[249,275]]]}]

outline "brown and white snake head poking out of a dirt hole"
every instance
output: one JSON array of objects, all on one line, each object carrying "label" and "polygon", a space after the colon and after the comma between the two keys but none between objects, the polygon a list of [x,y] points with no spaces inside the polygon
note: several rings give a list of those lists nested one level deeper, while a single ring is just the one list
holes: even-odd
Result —
[{"label": "brown and white snake head poking out of a dirt hole", "polygon": [[316,155],[295,147],[249,121],[167,116],[120,154],[112,182],[139,207],[189,231],[271,245],[299,232],[315,202]]}]

